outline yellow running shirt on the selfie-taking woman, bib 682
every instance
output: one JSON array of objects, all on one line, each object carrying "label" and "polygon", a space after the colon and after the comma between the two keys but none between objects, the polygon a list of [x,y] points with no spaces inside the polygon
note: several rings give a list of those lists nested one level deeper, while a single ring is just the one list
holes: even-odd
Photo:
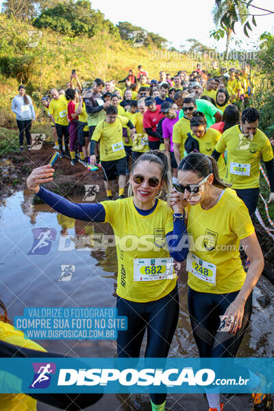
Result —
[{"label": "yellow running shirt on the selfie-taking woman, bib 682", "polygon": [[[173,231],[173,211],[166,201],[158,199],[155,210],[147,216],[138,213],[133,197],[103,201],[101,204],[105,209],[105,223],[112,225],[116,236],[119,265],[117,295],[129,301],[146,303],[169,294],[177,281],[174,271],[171,279],[144,281],[145,273],[164,273],[161,260],[170,258],[165,237]],[[142,264],[140,272],[144,277],[139,276],[140,280],[134,281],[139,263]]]}]

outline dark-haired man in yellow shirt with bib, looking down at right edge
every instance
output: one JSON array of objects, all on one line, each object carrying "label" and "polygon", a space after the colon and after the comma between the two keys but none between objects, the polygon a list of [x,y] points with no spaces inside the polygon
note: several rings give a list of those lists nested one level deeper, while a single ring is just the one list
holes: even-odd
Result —
[{"label": "dark-haired man in yellow shirt with bib, looking down at right edge", "polygon": [[256,211],[260,192],[260,160],[264,161],[269,176],[271,194],[274,200],[274,160],[269,138],[258,129],[260,114],[256,108],[242,111],[240,125],[234,125],[222,134],[212,157],[227,150],[225,180],[232,184],[242,199],[251,217]]}]

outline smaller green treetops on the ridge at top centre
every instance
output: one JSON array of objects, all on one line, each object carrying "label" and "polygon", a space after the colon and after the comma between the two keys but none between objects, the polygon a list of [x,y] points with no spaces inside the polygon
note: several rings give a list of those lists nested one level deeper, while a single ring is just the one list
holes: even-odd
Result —
[{"label": "smaller green treetops on the ridge at top centre", "polygon": [[133,25],[128,21],[121,22],[119,21],[117,25],[119,29],[120,36],[123,40],[128,41],[131,45],[133,45],[134,40],[134,32],[135,36],[140,35],[143,38],[144,42],[143,45],[145,47],[157,47],[158,49],[162,49],[166,47],[167,40],[164,37],[159,36],[159,34],[147,32],[142,27]]}]

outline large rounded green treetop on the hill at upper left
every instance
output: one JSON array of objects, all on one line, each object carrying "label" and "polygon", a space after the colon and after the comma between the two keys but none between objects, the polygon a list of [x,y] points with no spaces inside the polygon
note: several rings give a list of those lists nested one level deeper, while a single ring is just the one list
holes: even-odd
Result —
[{"label": "large rounded green treetop on the hill at upper left", "polygon": [[42,11],[34,22],[35,27],[49,28],[67,36],[93,37],[99,32],[108,32],[119,36],[118,29],[105,19],[99,10],[93,10],[88,0],[70,0],[69,3],[58,3],[53,8]]}]

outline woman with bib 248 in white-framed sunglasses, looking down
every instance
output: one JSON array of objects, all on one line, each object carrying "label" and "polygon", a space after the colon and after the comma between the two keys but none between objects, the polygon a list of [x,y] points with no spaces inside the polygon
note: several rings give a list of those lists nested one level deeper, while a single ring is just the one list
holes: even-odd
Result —
[{"label": "woman with bib 248 in white-framed sunglasses, looking down", "polygon": [[[264,267],[249,212],[231,184],[221,180],[216,161],[208,155],[188,154],[178,166],[173,186],[170,204],[181,204],[177,212],[186,208],[187,232],[194,245],[186,270],[188,310],[199,356],[235,357],[249,324],[252,290]],[[247,273],[239,246],[251,261]],[[260,377],[252,373],[248,377],[251,388],[260,386]],[[208,390],[207,396],[210,411],[223,410],[219,393]],[[259,403],[254,395],[254,410],[270,410],[260,408],[270,401],[267,395],[261,397]]]}]

